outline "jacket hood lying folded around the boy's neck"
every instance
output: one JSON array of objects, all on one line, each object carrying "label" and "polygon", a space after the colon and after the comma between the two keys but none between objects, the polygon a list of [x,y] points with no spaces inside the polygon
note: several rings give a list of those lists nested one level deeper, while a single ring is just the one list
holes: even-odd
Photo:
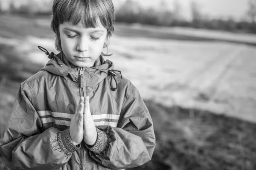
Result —
[{"label": "jacket hood lying folded around the boy's neck", "polygon": [[[55,59],[58,62],[56,62]],[[58,76],[69,77],[73,83],[77,84],[77,82],[79,82],[80,67],[71,68],[70,62],[62,52],[55,55],[55,59],[50,59],[41,70],[48,71]],[[86,76],[87,86],[95,86],[101,82],[108,76],[108,71],[111,69],[113,69],[113,63],[110,60],[105,61],[102,56],[95,61],[93,67],[84,67],[83,72]]]}]

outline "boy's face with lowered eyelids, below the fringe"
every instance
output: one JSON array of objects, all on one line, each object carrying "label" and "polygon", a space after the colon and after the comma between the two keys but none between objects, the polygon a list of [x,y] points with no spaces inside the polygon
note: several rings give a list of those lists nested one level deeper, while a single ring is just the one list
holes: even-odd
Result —
[{"label": "boy's face with lowered eyelids, below the fringe", "polygon": [[[77,67],[93,66],[103,50],[107,29],[100,22],[96,28],[84,28],[70,22],[60,24],[61,48],[65,57]],[[80,24],[81,25],[81,24]]]}]

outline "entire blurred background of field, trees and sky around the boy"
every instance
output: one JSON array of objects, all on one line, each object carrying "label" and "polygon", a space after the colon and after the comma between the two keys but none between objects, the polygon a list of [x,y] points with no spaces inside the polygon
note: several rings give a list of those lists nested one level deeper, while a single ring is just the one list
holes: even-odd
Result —
[{"label": "entire blurred background of field, trees and sky around the boy", "polygon": [[[256,169],[256,0],[113,0],[105,57],[139,89],[157,146],[147,170]],[[0,0],[0,134],[19,85],[55,50],[52,0]],[[0,159],[0,170],[7,170]]]}]

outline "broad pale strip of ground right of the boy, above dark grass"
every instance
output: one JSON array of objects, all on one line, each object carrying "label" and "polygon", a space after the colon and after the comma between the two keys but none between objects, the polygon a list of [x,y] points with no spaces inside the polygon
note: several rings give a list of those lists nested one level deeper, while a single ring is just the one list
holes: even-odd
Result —
[{"label": "broad pale strip of ground right of the boy, above dark grass", "polygon": [[256,48],[116,37],[110,49],[116,67],[146,99],[256,122]]}]

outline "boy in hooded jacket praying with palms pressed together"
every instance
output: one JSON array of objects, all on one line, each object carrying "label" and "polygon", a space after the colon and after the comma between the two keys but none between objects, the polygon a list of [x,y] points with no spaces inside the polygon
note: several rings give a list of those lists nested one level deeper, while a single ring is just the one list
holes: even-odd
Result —
[{"label": "boy in hooded jacket praying with palms pressed together", "polygon": [[152,119],[131,82],[104,60],[111,0],[54,0],[61,51],[20,85],[0,149],[12,170],[136,167],[155,147]]}]

